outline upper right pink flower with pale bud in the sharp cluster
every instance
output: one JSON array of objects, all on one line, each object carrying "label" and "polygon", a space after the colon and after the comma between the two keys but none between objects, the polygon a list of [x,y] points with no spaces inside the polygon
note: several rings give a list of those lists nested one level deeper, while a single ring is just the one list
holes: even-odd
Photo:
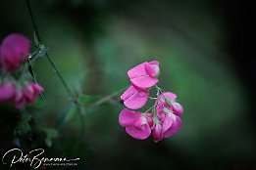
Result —
[{"label": "upper right pink flower with pale bud in the sharp cluster", "polygon": [[171,112],[174,112],[177,115],[181,115],[183,113],[183,107],[177,103],[175,100],[177,95],[172,92],[165,92],[160,96],[160,100],[158,102],[157,110],[159,112],[163,112],[164,107],[169,109]]}]

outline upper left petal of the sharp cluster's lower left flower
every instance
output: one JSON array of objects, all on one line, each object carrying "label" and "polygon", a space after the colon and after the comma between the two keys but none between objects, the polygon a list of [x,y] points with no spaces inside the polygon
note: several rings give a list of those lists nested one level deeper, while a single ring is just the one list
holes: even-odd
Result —
[{"label": "upper left petal of the sharp cluster's lower left flower", "polygon": [[119,114],[119,124],[123,127],[130,126],[141,116],[140,112],[131,111],[124,108]]}]

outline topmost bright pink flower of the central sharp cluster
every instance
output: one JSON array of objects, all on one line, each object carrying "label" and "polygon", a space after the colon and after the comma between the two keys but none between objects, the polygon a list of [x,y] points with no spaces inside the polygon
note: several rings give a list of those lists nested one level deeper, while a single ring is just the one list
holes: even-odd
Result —
[{"label": "topmost bright pink flower of the central sharp cluster", "polygon": [[141,89],[154,86],[159,75],[159,63],[157,61],[145,62],[128,70],[128,77],[131,83]]}]

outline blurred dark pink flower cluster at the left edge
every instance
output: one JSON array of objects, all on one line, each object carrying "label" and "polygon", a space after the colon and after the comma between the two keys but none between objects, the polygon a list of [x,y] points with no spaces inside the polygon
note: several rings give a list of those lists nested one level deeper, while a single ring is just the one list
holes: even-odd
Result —
[{"label": "blurred dark pink flower cluster at the left edge", "polygon": [[[30,50],[29,40],[21,34],[10,34],[0,47],[0,64],[7,73],[15,71],[23,64]],[[32,82],[26,83],[24,88],[18,88],[13,81],[0,79],[0,104],[11,101],[18,108],[34,103],[43,88]]]}]

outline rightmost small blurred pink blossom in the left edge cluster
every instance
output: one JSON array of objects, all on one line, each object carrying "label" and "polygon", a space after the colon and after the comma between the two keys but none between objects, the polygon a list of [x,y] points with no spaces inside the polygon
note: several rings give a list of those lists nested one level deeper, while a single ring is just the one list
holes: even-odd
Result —
[{"label": "rightmost small blurred pink blossom in the left edge cluster", "polygon": [[26,103],[34,103],[34,101],[38,98],[39,93],[42,91],[43,88],[39,84],[32,82],[28,83],[23,91]]}]

